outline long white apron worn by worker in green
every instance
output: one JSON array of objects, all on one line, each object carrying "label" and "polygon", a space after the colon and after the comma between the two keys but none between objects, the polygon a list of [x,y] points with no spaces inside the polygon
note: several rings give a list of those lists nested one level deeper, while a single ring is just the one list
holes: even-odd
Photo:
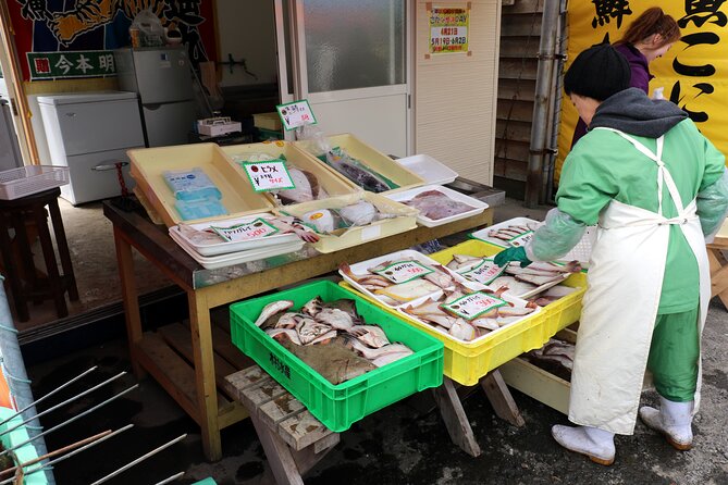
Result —
[{"label": "long white apron worn by worker in green", "polygon": [[[569,420],[631,435],[657,316],[670,225],[680,225],[698,260],[701,333],[711,298],[711,277],[695,201],[683,207],[662,162],[663,137],[657,139],[657,153],[653,153],[621,132],[595,129],[617,133],[657,164],[659,208],[655,213],[613,200],[600,215],[571,374]],[[663,186],[678,209],[677,217],[662,215]],[[700,389],[699,365],[693,412],[698,411]]]}]

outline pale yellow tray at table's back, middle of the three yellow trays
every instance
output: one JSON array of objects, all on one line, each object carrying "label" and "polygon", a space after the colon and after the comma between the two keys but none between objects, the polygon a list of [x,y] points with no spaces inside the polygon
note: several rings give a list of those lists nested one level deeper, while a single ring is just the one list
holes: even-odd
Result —
[{"label": "pale yellow tray at table's back, middle of the three yellow trays", "polygon": [[[287,162],[291,162],[292,165],[316,175],[319,181],[319,185],[323,187],[329,196],[344,196],[359,191],[358,187],[353,187],[351,184],[343,181],[336,171],[289,141],[279,140],[273,142],[231,145],[221,148],[222,151],[231,159],[239,174],[246,179],[247,176],[245,175],[245,171],[239,165],[239,163],[237,163],[236,157],[240,157],[246,153],[266,153],[275,158],[283,156]],[[272,203],[277,201],[275,197],[269,195],[268,192],[266,192],[266,197],[268,197]]]}]

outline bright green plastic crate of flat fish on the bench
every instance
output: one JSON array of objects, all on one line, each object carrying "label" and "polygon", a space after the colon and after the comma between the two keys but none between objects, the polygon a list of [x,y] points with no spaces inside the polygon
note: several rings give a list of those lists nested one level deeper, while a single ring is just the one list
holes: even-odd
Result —
[{"label": "bright green plastic crate of flat fish on the bench", "polygon": [[[323,301],[354,299],[359,315],[367,323],[380,325],[390,340],[407,345],[415,353],[338,385],[331,384],[254,323],[262,308],[272,301],[293,300],[294,308],[298,309],[316,296]],[[334,432],[348,430],[367,414],[442,384],[442,341],[330,281],[231,304],[230,322],[233,344]]]}]

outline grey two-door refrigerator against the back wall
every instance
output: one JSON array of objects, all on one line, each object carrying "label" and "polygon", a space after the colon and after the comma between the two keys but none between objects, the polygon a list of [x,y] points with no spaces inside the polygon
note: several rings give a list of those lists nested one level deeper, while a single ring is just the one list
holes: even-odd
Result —
[{"label": "grey two-door refrigerator against the back wall", "polygon": [[139,95],[147,146],[187,144],[197,112],[186,47],[116,49],[114,61],[120,89]]}]

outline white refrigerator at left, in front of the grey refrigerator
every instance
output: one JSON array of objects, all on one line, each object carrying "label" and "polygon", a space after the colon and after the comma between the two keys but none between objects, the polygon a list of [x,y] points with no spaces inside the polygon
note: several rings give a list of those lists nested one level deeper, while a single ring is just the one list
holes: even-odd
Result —
[{"label": "white refrigerator at left, in front of the grey refrigerator", "polygon": [[119,167],[128,190],[126,150],[144,148],[135,92],[98,91],[38,97],[51,164],[69,167],[61,197],[76,206],[122,194]]}]

